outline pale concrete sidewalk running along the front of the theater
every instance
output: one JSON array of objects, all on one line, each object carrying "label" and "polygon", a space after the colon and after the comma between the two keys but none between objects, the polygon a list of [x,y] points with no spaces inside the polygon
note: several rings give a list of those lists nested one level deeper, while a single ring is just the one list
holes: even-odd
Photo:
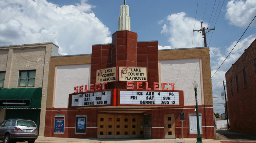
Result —
[{"label": "pale concrete sidewalk running along the front of the theater", "polygon": [[[38,136],[35,143],[196,143],[196,138],[144,139],[144,138],[61,138]],[[219,140],[202,139],[203,143],[221,143]]]}]

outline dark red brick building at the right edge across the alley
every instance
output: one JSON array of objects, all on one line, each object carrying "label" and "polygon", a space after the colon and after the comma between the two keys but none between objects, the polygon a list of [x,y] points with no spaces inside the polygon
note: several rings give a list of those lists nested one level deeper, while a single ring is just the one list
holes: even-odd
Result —
[{"label": "dark red brick building at the right edge across the alley", "polygon": [[225,77],[230,130],[256,135],[256,39]]}]

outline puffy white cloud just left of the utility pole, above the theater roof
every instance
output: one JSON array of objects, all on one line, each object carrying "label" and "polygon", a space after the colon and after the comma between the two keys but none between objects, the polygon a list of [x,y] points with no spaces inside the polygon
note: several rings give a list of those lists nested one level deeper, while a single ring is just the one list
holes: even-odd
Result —
[{"label": "puffy white cloud just left of the utility pole, above the theater roof", "polygon": [[[159,22],[159,24],[162,23],[164,22]],[[193,32],[194,24],[195,30],[201,29],[200,21],[195,22],[195,18],[186,17],[185,12],[174,13],[167,16],[161,33],[169,36],[168,41],[173,48],[203,47],[202,34]],[[207,24],[203,23],[203,27],[206,26]]]}]

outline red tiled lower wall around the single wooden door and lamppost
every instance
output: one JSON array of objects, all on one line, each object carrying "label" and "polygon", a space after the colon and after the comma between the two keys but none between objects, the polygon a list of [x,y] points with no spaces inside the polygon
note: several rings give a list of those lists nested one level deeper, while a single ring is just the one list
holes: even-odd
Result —
[{"label": "red tiled lower wall around the single wooden door and lamppost", "polygon": [[[175,114],[175,135],[176,138],[182,138],[182,124],[179,120],[179,113],[185,113],[185,121],[183,121],[184,138],[196,138],[197,134],[189,134],[189,114],[196,114],[195,106],[185,106],[183,109],[165,109],[152,110],[152,127],[164,127],[164,114]],[[212,105],[199,105],[199,113],[202,114],[203,134],[202,138],[215,139],[214,118]],[[157,117],[157,120],[154,118]],[[205,117],[205,118],[204,118]],[[164,138],[164,128],[152,128],[152,138]]]}]

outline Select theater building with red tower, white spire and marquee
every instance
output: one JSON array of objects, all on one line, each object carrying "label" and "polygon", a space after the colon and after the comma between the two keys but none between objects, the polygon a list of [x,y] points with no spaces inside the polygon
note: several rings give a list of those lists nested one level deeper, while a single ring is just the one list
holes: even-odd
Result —
[{"label": "Select theater building with red tower, white spire and marquee", "polygon": [[184,137],[195,138],[196,81],[201,136],[214,139],[209,47],[158,50],[158,41],[137,39],[122,5],[112,43],[92,45],[88,55],[52,56],[40,134],[177,138],[182,113]]}]

